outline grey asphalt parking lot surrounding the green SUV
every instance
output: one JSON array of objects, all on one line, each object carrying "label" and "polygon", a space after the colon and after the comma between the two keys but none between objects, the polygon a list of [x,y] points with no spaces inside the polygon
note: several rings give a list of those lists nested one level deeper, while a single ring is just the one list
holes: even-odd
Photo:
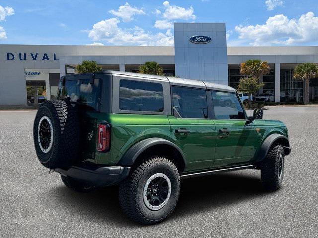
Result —
[{"label": "grey asphalt parking lot surrounding the green SUV", "polygon": [[244,170],[182,181],[172,216],[152,226],[125,217],[116,187],[89,194],[66,188],[36,157],[36,111],[0,111],[0,237],[317,237],[318,107],[277,107],[264,119],[289,129],[278,192]]}]

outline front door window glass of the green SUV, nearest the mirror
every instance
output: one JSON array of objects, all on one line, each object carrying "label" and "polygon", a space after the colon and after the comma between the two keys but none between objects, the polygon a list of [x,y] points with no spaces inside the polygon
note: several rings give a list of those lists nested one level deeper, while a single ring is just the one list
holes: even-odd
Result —
[{"label": "front door window glass of the green SUV, nearest the mirror", "polygon": [[212,92],[216,119],[245,119],[244,110],[235,93]]}]

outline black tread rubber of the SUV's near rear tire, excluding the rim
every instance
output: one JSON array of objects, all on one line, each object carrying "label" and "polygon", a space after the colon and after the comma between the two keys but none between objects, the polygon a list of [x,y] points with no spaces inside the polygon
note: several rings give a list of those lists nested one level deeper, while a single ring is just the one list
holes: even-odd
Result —
[{"label": "black tread rubber of the SUV's near rear tire, excluding the rim", "polygon": [[[150,210],[144,200],[143,191],[147,179],[156,173],[165,174],[171,181],[171,195],[167,203],[157,211]],[[150,157],[132,171],[119,186],[119,201],[124,213],[141,224],[155,224],[169,217],[180,195],[180,175],[176,166],[164,157]]]}]

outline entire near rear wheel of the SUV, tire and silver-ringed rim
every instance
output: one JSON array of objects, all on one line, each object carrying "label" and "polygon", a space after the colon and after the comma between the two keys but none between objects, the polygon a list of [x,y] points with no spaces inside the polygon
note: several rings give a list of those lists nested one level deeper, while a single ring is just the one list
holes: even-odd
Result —
[{"label": "entire near rear wheel of the SUV, tire and silver-ringed rim", "polygon": [[163,157],[151,157],[119,187],[124,213],[141,224],[154,224],[170,216],[180,194],[180,175],[176,166]]}]

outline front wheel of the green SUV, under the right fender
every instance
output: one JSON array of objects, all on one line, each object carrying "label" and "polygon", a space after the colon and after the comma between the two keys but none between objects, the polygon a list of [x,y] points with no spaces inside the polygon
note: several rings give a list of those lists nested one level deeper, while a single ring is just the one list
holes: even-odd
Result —
[{"label": "front wheel of the green SUV, under the right fender", "polygon": [[[280,158],[282,157],[282,170],[281,176],[279,173]],[[261,163],[261,181],[265,190],[276,191],[283,182],[284,177],[284,161],[285,153],[281,145],[273,146],[264,161]]]}]

